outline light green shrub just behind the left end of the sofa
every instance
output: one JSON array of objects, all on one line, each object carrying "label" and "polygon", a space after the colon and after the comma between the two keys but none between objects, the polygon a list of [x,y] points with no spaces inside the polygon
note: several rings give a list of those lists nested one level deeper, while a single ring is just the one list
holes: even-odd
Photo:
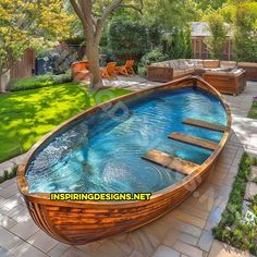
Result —
[{"label": "light green shrub just behind the left end of the sofa", "polygon": [[160,48],[156,48],[150,52],[147,52],[140,60],[138,66],[138,74],[140,76],[146,76],[147,65],[150,65],[154,62],[161,62],[168,60],[169,57],[162,52]]}]

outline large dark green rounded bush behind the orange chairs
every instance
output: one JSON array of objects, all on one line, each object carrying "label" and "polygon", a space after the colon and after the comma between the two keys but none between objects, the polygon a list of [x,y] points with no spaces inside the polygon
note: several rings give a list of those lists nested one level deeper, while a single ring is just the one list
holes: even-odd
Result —
[{"label": "large dark green rounded bush behind the orange chairs", "polygon": [[147,27],[136,21],[112,20],[108,36],[109,54],[114,60],[138,61],[150,47]]}]

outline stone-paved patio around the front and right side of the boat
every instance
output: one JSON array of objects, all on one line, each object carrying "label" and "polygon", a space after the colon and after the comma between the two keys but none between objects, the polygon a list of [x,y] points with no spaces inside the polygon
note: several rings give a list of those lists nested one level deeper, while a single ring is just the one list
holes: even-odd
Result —
[{"label": "stone-paved patio around the front and right side of the boat", "polygon": [[244,149],[257,155],[257,120],[246,118],[253,96],[257,96],[257,83],[248,83],[238,97],[225,96],[232,109],[233,134],[208,180],[176,209],[134,232],[84,246],[58,243],[32,221],[15,179],[0,184],[0,256],[249,256],[213,241],[211,228],[220,220]]}]

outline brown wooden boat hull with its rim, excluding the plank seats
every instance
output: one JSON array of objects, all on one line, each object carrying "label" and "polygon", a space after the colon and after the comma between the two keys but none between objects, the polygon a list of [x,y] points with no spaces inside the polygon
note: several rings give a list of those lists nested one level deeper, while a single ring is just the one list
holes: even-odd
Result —
[{"label": "brown wooden boat hull with its rim, excluding the plank seats", "polygon": [[228,125],[223,137],[205,163],[181,182],[154,193],[150,200],[146,201],[52,201],[49,194],[29,194],[25,174],[27,166],[38,148],[71,122],[99,110],[101,106],[97,106],[68,121],[44,137],[32,148],[24,164],[20,166],[17,174],[19,187],[36,224],[60,242],[86,244],[117,233],[135,230],[158,219],[185,200],[207,178],[230,135],[231,113],[220,94],[198,77],[186,77],[110,101],[114,103],[149,91],[161,90],[162,88],[186,87],[192,85],[192,83],[217,96],[223,102],[228,114]]}]

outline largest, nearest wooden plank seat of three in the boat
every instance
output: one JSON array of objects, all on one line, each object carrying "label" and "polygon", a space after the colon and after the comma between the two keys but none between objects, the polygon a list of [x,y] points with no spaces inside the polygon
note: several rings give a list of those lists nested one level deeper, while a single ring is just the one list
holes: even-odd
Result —
[{"label": "largest, nearest wooden plank seat of three in the boat", "polygon": [[162,166],[164,168],[169,168],[171,170],[175,170],[185,175],[189,175],[196,168],[199,166],[193,163],[191,161],[182,160],[174,156],[170,156],[166,152],[159,150],[150,150],[145,156],[142,157],[145,160],[151,161],[156,164]]}]

